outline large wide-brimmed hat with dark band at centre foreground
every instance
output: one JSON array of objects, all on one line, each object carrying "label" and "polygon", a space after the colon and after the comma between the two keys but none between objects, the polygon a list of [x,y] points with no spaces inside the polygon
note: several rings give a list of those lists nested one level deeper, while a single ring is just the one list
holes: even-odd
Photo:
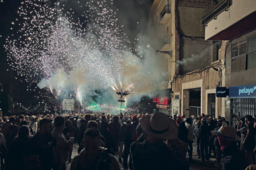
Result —
[{"label": "large wide-brimmed hat with dark band at centre foreground", "polygon": [[140,126],[150,137],[158,139],[175,139],[179,131],[176,122],[164,113],[144,116]]}]

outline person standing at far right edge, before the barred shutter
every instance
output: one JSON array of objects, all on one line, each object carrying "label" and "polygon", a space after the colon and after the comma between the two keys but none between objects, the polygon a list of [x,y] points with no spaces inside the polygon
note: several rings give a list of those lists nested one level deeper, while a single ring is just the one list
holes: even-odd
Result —
[{"label": "person standing at far right edge, before the barred shutter", "polygon": [[247,115],[247,134],[245,136],[243,147],[245,150],[245,156],[249,164],[255,164],[255,134],[256,129],[254,128],[254,118]]}]

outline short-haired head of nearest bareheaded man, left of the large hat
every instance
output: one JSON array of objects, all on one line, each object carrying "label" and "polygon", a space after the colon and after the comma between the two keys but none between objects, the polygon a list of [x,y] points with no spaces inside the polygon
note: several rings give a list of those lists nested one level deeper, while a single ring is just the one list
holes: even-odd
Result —
[{"label": "short-haired head of nearest bareheaded man, left of the large hat", "polygon": [[83,136],[83,146],[87,153],[96,153],[101,145],[100,131],[90,128],[85,131]]}]

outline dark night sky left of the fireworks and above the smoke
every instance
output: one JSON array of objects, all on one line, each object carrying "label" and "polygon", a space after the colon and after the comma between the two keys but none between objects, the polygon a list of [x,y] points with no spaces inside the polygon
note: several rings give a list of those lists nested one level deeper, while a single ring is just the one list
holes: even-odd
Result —
[{"label": "dark night sky left of the fireworks and above the smoke", "polygon": [[[17,76],[17,73],[11,70],[6,60],[4,43],[5,39],[8,36],[12,36],[12,33],[15,32],[15,26],[11,23],[18,17],[17,9],[20,6],[20,2],[22,1],[3,0],[2,2],[2,0],[0,0],[0,83],[3,84],[4,89],[4,92],[0,95],[0,101],[2,101],[0,108],[2,108],[4,112],[8,110],[8,94],[10,94],[11,91],[12,95],[15,96],[14,102],[22,103],[25,107],[30,107],[30,105],[38,103],[37,97],[40,92],[39,89],[38,91],[27,91],[28,86],[33,89],[36,84],[26,83],[24,79]],[[120,25],[124,25],[125,31],[127,35],[130,36],[130,39],[134,38],[132,36],[136,36],[139,31],[142,31],[143,28],[141,28],[141,30],[137,28],[136,23],[148,17],[148,10],[152,3],[153,0],[114,1],[113,9],[119,9],[117,16],[121,18],[119,20]],[[14,27],[14,30],[10,30],[11,27]]]}]

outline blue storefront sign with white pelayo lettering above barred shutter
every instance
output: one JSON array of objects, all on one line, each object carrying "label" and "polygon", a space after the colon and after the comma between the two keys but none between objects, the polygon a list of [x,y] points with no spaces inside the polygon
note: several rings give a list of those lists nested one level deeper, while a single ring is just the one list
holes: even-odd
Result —
[{"label": "blue storefront sign with white pelayo lettering above barred shutter", "polygon": [[255,98],[256,84],[229,87],[230,98]]}]

